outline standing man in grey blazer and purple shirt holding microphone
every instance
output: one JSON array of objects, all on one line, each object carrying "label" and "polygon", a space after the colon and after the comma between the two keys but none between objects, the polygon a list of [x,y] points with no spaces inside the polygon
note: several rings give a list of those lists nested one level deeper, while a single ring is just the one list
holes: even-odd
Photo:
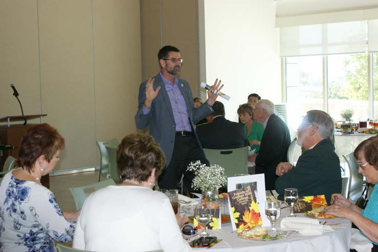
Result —
[{"label": "standing man in grey blazer and purple shirt holding microphone", "polygon": [[[138,129],[150,126],[150,135],[160,144],[165,154],[166,169],[159,177],[159,186],[176,189],[188,163],[200,160],[208,164],[194,124],[213,113],[212,106],[223,85],[216,79],[208,90],[208,99],[199,108],[193,107],[193,95],[188,83],[176,77],[180,73],[180,50],[164,46],[158,53],[160,72],[144,81],[139,87],[138,111],[135,123]],[[190,173],[185,174],[186,187],[190,190]]]}]

